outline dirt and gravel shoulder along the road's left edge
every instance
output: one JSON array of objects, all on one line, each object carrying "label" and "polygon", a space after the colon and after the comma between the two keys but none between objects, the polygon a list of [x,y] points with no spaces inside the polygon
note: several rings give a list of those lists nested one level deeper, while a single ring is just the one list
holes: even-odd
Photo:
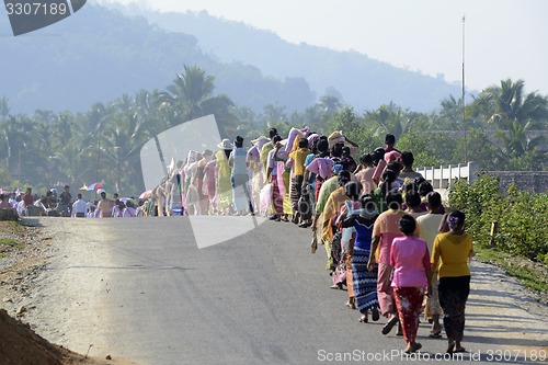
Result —
[{"label": "dirt and gravel shoulder along the road's left edge", "polygon": [[[62,219],[62,218],[61,218]],[[110,354],[90,357],[53,344],[36,333],[31,312],[32,294],[48,260],[58,252],[58,240],[38,220],[25,225],[0,221],[0,358],[2,364],[26,365],[129,365]],[[68,221],[66,221],[68,223]],[[114,357],[114,358],[113,358]]]}]

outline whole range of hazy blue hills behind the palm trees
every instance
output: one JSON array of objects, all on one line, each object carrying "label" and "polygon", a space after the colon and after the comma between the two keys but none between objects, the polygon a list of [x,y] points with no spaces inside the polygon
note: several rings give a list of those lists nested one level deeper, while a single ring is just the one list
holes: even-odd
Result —
[{"label": "whole range of hazy blue hills behind the palm trees", "polygon": [[[158,13],[89,4],[27,36],[11,36],[0,16],[0,98],[12,113],[36,109],[85,112],[141,89],[164,90],[183,65],[215,77],[216,93],[260,112],[278,104],[304,110],[327,93],[357,111],[393,101],[430,112],[459,85],[353,52],[295,45],[267,31],[205,12]],[[139,13],[142,16],[132,16]]]}]

